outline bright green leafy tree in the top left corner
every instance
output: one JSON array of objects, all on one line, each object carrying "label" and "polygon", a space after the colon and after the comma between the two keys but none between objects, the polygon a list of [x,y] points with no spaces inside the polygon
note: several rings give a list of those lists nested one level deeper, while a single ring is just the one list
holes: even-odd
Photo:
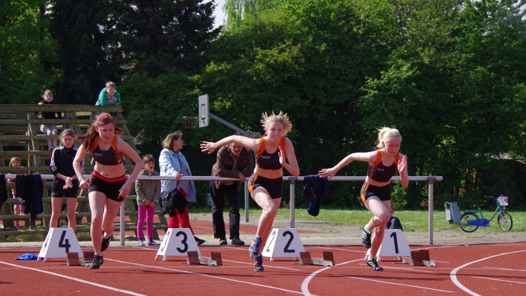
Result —
[{"label": "bright green leafy tree in the top left corner", "polygon": [[36,103],[53,75],[46,66],[57,58],[43,18],[47,1],[0,3],[0,102]]}]

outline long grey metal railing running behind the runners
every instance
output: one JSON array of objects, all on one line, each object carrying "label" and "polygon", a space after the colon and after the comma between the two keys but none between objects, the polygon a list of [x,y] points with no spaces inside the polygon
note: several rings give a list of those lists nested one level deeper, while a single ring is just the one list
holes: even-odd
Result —
[{"label": "long grey metal railing running behind the runners", "polygon": [[[6,179],[14,179],[16,175],[6,174]],[[42,180],[52,180],[53,175],[40,175]],[[86,180],[90,175],[84,175]],[[332,177],[329,181],[365,181],[365,176],[360,177]],[[138,176],[137,180],[174,180],[174,177],[168,176]],[[212,177],[212,176],[191,176],[191,177],[181,177],[181,180],[192,180],[192,181],[236,181],[238,179],[228,178],[228,177]],[[303,181],[303,177],[293,177],[293,176],[284,176],[284,181],[290,182],[290,228],[295,228],[295,201],[296,201],[296,192],[295,184],[296,181]],[[392,181],[400,181],[400,177],[392,177]],[[409,181],[427,181],[429,184],[428,195],[429,195],[429,206],[428,206],[428,228],[429,228],[429,245],[433,245],[433,204],[434,204],[434,182],[442,181],[442,176],[413,176],[408,177]],[[121,204],[121,225],[124,225],[123,214],[125,212],[124,203]],[[249,190],[248,190],[248,181],[245,181],[245,221],[249,222]],[[124,245],[124,227],[121,227],[121,245]]]}]

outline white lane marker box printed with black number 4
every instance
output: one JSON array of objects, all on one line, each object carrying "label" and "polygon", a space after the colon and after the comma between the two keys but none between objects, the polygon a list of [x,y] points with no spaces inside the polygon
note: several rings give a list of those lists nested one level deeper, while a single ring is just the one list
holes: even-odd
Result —
[{"label": "white lane marker box printed with black number 4", "polygon": [[82,249],[73,228],[49,228],[44,245],[40,248],[37,261],[43,258],[68,258],[66,253],[77,252],[83,258]]}]

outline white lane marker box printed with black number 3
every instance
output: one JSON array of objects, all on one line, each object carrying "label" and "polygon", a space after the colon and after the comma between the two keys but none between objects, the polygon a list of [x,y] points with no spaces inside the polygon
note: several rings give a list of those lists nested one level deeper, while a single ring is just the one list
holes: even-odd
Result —
[{"label": "white lane marker box printed with black number 3", "polygon": [[164,235],[162,243],[155,255],[155,260],[159,256],[164,256],[163,261],[166,261],[168,256],[186,256],[188,251],[197,251],[199,259],[201,259],[201,252],[197,243],[195,243],[194,235],[189,228],[168,228]]}]

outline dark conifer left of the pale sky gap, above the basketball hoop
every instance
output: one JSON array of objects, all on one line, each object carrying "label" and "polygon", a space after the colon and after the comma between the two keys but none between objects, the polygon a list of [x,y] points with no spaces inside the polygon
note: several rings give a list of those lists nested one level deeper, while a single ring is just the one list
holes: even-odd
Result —
[{"label": "dark conifer left of the pale sky gap, above the basketball hoop", "polygon": [[137,72],[166,69],[198,73],[201,56],[220,29],[213,29],[214,1],[130,1],[117,24],[122,50]]}]

